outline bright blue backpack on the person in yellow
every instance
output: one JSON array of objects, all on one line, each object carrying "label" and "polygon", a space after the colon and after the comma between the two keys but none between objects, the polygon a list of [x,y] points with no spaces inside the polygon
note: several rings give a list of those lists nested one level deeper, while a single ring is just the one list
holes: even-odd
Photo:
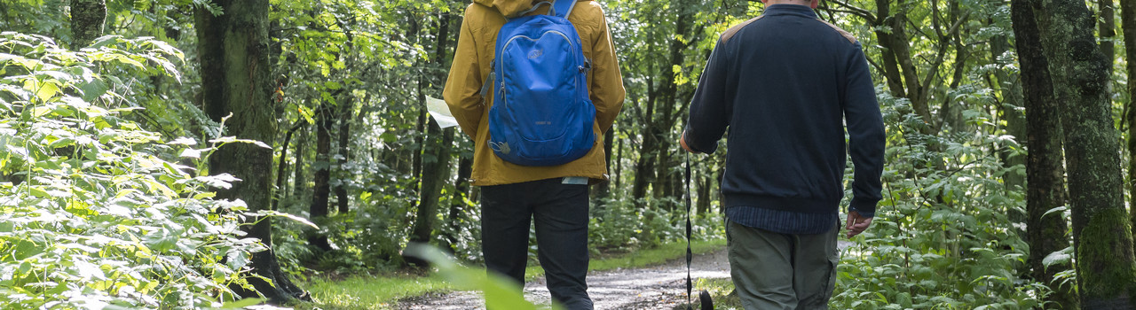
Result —
[{"label": "bright blue backpack on the person in yellow", "polygon": [[[542,5],[549,15],[524,16]],[[521,166],[557,166],[587,154],[595,142],[595,106],[576,27],[568,22],[576,0],[535,5],[498,33],[496,59],[482,87],[496,85],[490,108],[490,149]]]}]

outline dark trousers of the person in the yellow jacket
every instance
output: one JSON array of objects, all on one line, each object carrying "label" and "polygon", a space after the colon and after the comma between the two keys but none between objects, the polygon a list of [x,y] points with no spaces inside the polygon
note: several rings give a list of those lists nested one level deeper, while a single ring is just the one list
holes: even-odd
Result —
[{"label": "dark trousers of the person in the yellow jacket", "polygon": [[549,292],[565,309],[592,309],[587,296],[587,185],[550,178],[482,187],[485,267],[524,283],[529,219]]}]

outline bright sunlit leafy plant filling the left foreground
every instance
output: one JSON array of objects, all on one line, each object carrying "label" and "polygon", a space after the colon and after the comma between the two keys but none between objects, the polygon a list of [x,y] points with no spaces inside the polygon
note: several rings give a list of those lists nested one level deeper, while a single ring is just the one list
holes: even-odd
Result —
[{"label": "bright sunlit leafy plant filling the left foreground", "polygon": [[[232,307],[250,253],[229,175],[199,175],[218,137],[168,141],[127,115],[139,76],[182,52],[105,36],[82,51],[0,33],[0,308]],[[228,302],[228,303],[226,303]]]}]

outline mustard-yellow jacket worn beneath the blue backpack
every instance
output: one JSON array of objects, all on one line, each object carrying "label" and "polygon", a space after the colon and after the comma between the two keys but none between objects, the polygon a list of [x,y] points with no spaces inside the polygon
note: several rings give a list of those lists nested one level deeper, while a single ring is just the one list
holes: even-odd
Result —
[{"label": "mustard-yellow jacket worn beneath the blue backpack", "polygon": [[[619,61],[608,32],[603,9],[594,1],[578,1],[568,20],[576,27],[584,49],[584,57],[592,60],[588,73],[588,95],[595,104],[595,144],[584,157],[560,166],[518,166],[496,157],[488,146],[488,110],[493,106],[492,91],[482,102],[482,84],[490,74],[494,58],[498,31],[506,23],[506,16],[533,7],[532,0],[474,0],[466,8],[461,23],[458,49],[453,56],[450,77],[445,82],[443,97],[450,111],[457,118],[461,131],[474,140],[473,184],[477,186],[521,183],[545,178],[582,176],[591,184],[608,179],[604,164],[603,134],[611,129],[624,102],[624,83],[619,74]],[[542,6],[533,14],[548,12]]]}]

